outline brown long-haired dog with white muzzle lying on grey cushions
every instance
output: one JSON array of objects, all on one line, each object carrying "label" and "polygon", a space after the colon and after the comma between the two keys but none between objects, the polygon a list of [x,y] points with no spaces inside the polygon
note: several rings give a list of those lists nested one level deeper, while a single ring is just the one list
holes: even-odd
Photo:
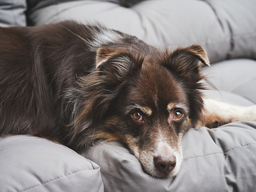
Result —
[{"label": "brown long-haired dog with white muzzle lying on grey cushions", "polygon": [[256,117],[255,106],[204,99],[209,59],[200,45],[157,49],[74,21],[0,28],[0,36],[1,136],[40,136],[78,153],[119,141],[146,173],[166,178],[180,170],[190,127]]}]

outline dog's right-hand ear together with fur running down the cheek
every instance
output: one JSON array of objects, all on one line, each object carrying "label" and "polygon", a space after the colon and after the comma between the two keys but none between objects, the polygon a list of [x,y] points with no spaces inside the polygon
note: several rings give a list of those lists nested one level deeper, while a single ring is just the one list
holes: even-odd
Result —
[{"label": "dog's right-hand ear together with fur running down the cheek", "polygon": [[186,48],[178,48],[167,55],[163,65],[167,67],[173,76],[180,79],[180,83],[187,90],[192,126],[202,119],[204,107],[203,93],[205,86],[201,82],[204,76],[200,70],[203,65],[210,65],[207,53],[201,45],[191,45]]}]

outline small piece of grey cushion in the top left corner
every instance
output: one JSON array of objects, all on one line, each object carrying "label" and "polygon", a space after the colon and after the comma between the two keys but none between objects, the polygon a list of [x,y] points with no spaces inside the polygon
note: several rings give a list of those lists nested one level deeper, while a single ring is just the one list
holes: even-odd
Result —
[{"label": "small piece of grey cushion in the top left corner", "polygon": [[26,0],[0,1],[0,26],[26,26]]}]

